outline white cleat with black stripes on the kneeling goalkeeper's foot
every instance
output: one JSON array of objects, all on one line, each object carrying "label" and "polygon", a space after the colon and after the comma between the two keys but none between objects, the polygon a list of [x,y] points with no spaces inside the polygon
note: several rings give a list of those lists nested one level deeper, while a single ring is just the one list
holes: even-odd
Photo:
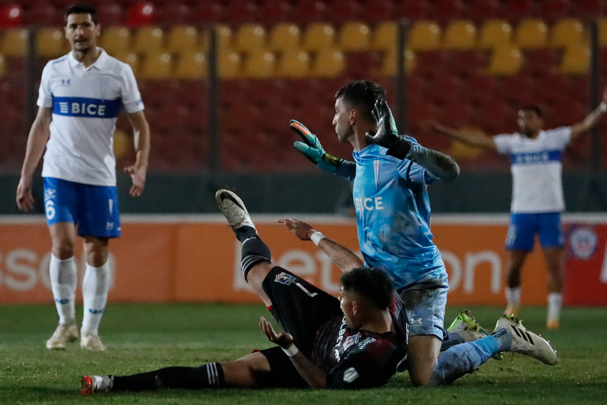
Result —
[{"label": "white cleat with black stripes on the kneeling goalkeeper's foot", "polygon": [[506,329],[512,335],[509,352],[531,356],[549,366],[557,364],[557,352],[552,349],[550,343],[540,335],[528,330],[514,316],[502,315],[498,319],[493,333],[498,333],[500,329]]}]

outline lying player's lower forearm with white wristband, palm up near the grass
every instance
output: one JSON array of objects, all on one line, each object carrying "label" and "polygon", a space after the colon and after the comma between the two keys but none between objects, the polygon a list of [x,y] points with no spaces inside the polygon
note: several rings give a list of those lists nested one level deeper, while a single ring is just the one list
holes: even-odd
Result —
[{"label": "lying player's lower forearm with white wristband, palm up near the grass", "polygon": [[262,332],[268,337],[268,340],[276,343],[283,350],[285,350],[293,366],[297,369],[299,374],[304,378],[305,382],[312,388],[325,388],[327,387],[327,375],[319,369],[316,364],[311,362],[306,356],[297,349],[293,344],[293,336],[285,332],[276,333],[272,324],[267,319],[259,318],[259,327]]}]

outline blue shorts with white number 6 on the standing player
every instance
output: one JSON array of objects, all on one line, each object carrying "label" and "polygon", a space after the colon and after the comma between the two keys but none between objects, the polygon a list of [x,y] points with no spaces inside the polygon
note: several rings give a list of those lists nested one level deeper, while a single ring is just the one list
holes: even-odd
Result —
[{"label": "blue shorts with white number 6 on the standing player", "polygon": [[44,211],[47,225],[75,223],[79,236],[120,236],[115,186],[92,186],[44,177]]}]

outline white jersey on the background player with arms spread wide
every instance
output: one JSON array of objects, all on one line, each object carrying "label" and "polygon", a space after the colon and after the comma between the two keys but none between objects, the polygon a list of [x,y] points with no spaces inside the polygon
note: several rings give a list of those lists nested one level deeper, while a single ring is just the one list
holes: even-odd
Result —
[{"label": "white jersey on the background player with arms spread wide", "polygon": [[493,137],[498,152],[512,162],[512,213],[555,213],[565,209],[561,173],[563,149],[571,128],[540,131],[537,138],[522,134]]}]

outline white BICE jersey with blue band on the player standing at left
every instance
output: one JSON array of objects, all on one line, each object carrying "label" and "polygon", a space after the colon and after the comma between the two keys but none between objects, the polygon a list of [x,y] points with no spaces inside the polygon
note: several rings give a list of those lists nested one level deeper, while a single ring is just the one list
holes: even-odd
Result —
[{"label": "white BICE jersey with blue band on the player standing at left", "polygon": [[53,108],[42,177],[116,185],[118,113],[141,111],[143,102],[131,66],[100,50],[89,67],[70,52],[42,71],[37,104]]}]

